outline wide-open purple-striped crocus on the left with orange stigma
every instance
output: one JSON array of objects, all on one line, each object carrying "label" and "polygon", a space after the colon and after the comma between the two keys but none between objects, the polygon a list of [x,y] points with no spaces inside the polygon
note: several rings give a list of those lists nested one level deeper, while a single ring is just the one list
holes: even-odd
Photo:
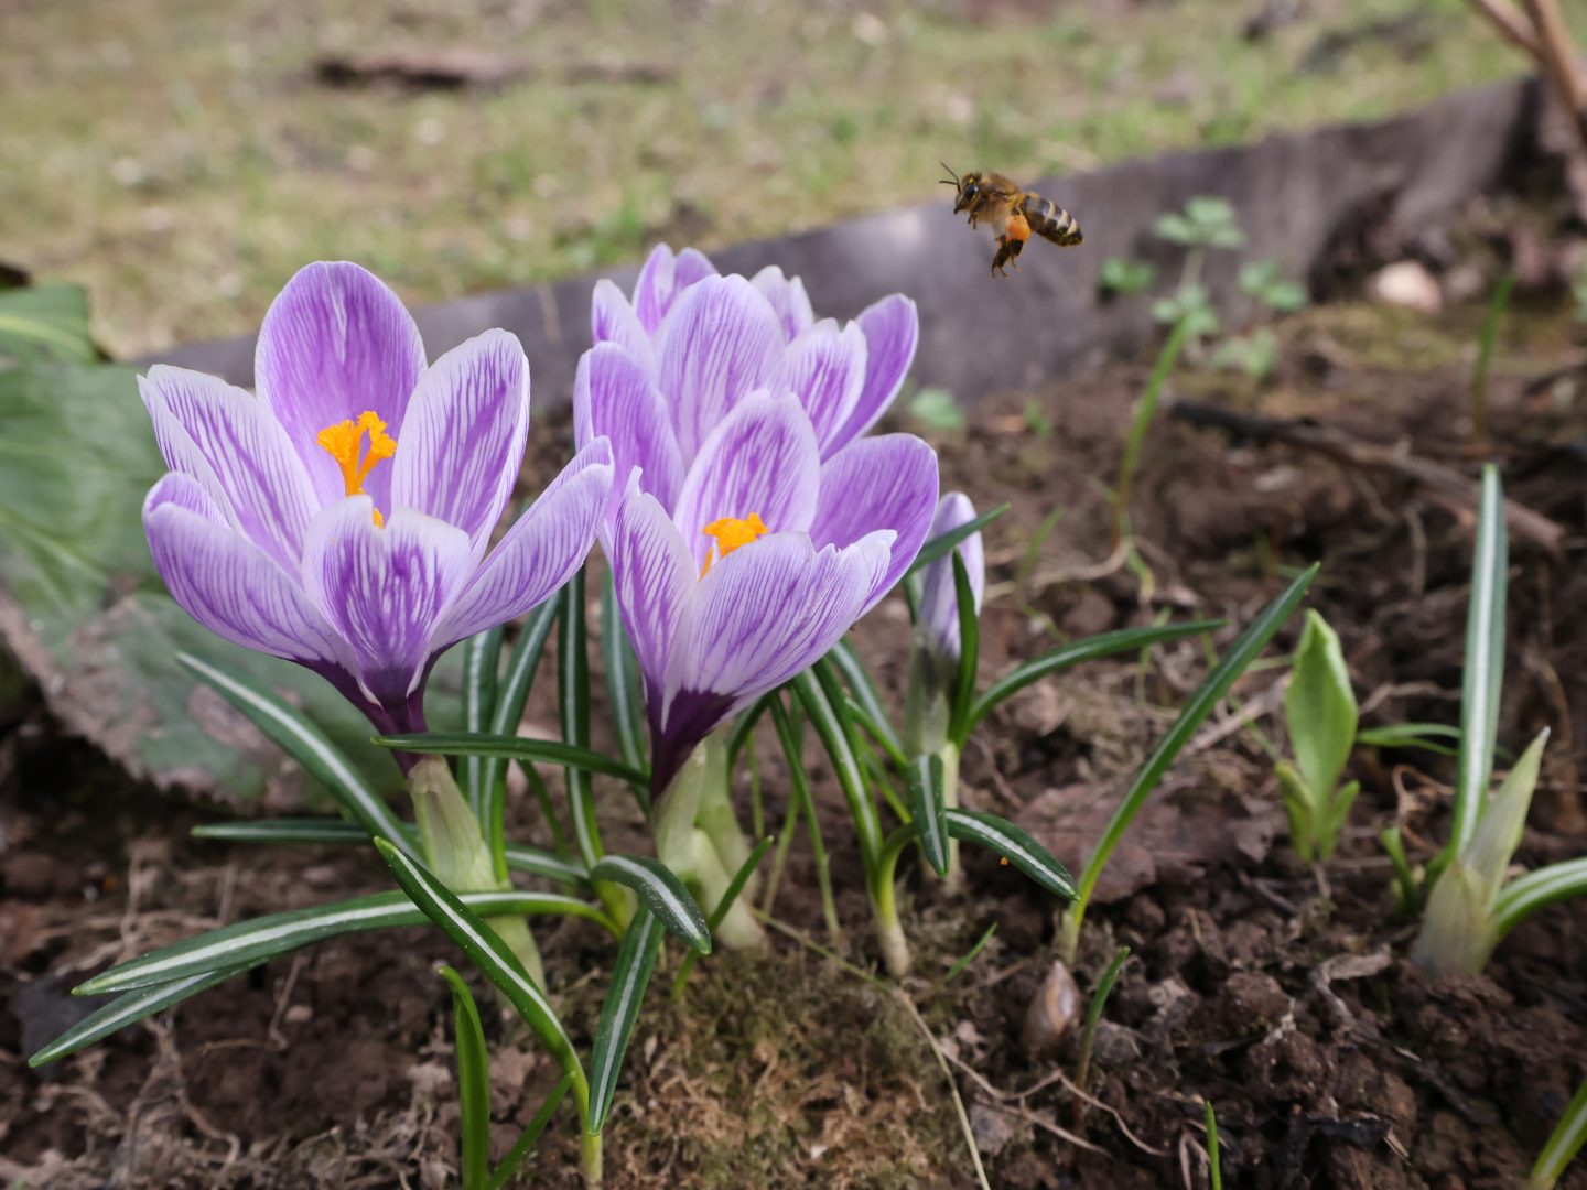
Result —
[{"label": "wide-open purple-striped crocus on the left with orange stigma", "polygon": [[382,731],[422,730],[435,658],[582,563],[608,444],[587,440],[490,549],[528,433],[524,351],[489,330],[425,367],[402,301],[351,263],[287,282],[254,378],[257,395],[140,378],[170,466],[143,506],[154,565],[216,635],[324,674]]}]

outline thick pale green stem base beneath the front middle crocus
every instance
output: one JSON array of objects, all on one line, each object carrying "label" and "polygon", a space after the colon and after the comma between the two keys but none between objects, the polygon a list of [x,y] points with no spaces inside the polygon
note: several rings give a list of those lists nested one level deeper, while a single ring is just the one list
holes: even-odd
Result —
[{"label": "thick pale green stem base beneath the front middle crocus", "polygon": [[[716,731],[695,747],[655,803],[655,854],[711,912],[749,852],[728,801],[727,736]],[[751,949],[765,941],[746,898],[727,911],[716,938],[732,949]]]}]

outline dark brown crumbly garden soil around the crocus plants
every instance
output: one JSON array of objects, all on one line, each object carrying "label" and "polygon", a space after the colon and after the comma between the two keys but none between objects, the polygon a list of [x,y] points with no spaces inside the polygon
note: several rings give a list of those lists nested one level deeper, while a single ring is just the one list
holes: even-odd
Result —
[{"label": "dark brown crumbly garden soil around the crocus plants", "polygon": [[[1381,309],[1320,309],[1285,327],[1274,384],[1182,373],[1176,390],[1404,441],[1470,473],[1458,417],[1479,317],[1457,311],[1435,330]],[[1512,535],[1501,744],[1555,730],[1522,847],[1528,865],[1587,846],[1587,419],[1579,387],[1525,392],[1528,376],[1574,357],[1568,333],[1557,308],[1512,319],[1493,384],[1508,493],[1568,535],[1563,560]],[[992,395],[968,432],[941,443],[947,482],[982,508],[1013,503],[989,533],[984,674],[1055,635],[1139,624],[1162,608],[1239,624],[1276,592],[1281,566],[1324,559],[1312,606],[1344,639],[1371,708],[1365,722],[1454,722],[1470,524],[1393,476],[1165,417],[1135,500],[1151,605],[1127,570],[1073,579],[1108,552],[1100,484],[1143,379],[1144,367],[1120,367]],[[1027,417],[1027,401],[1041,419]],[[1035,428],[1041,420],[1051,430]],[[1062,522],[1032,551],[1055,508],[1066,509]],[[901,612],[878,614],[859,639],[897,693]],[[1292,641],[1293,625],[1282,638]],[[1200,646],[1185,644],[1144,666],[1092,665],[1032,689],[970,749],[966,801],[1020,819],[1078,868],[1171,717],[1163,708],[1203,671]],[[1274,666],[1241,682],[1239,704],[1176,766],[1101,890],[1074,973],[1082,993],[1117,946],[1133,957],[1098,1033],[1089,1111],[1059,1077],[1073,1077],[1076,1030],[1044,1052],[1020,1041],[1055,958],[1051,900],[982,854],[968,855],[959,900],[906,874],[919,974],[905,990],[954,1063],[993,1185],[1205,1185],[1205,1096],[1219,1112],[1230,1187],[1512,1187],[1587,1076],[1587,906],[1555,906],[1522,927],[1481,977],[1420,976],[1403,960],[1414,928],[1392,916],[1376,836],[1398,822],[1419,857],[1431,854],[1449,763],[1362,750],[1354,771],[1365,790],[1339,857],[1327,871],[1301,868],[1257,738],[1282,730],[1281,678]],[[386,881],[357,852],[190,843],[197,812],[129,789],[57,738],[37,698],[6,720],[0,1174],[27,1187],[428,1187],[454,1176],[451,1014],[432,974],[452,955],[432,931],[321,946],[57,1068],[25,1068],[19,1055],[84,1011],[65,988],[86,971],[221,920]],[[763,771],[776,820],[786,781],[770,760]],[[841,800],[819,773],[817,784],[843,946],[868,966],[857,855]],[[609,812],[609,843],[641,846],[616,790]],[[527,811],[521,825],[535,830]],[[797,849],[778,916],[825,941],[813,885]],[[940,985],[992,922],[987,949]],[[562,925],[543,946],[570,1028],[587,1039],[609,944]],[[676,969],[676,952],[665,962]],[[663,968],[608,1128],[609,1185],[973,1185],[946,1079],[893,993],[784,936],[763,957],[708,960],[681,1001],[668,1000],[668,984]],[[489,1015],[500,1152],[554,1073],[514,1022]],[[576,1184],[571,1119],[554,1125],[533,1184]],[[1587,1171],[1565,1185],[1587,1185]]]}]

